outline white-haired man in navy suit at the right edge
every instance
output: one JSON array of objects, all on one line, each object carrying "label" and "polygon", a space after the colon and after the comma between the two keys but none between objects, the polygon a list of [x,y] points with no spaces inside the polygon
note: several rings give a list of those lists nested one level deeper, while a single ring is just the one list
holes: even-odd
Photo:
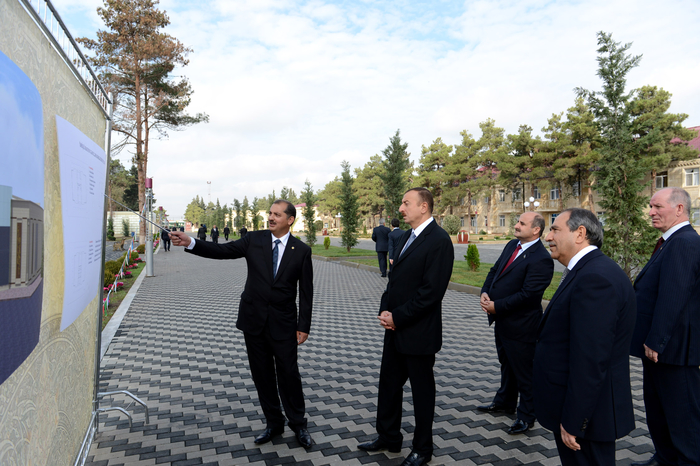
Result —
[{"label": "white-haired man in navy suit at the right edge", "polygon": [[700,464],[700,236],[690,196],[665,188],[649,203],[663,235],[634,282],[631,354],[642,359],[644,407],[656,454],[638,465]]}]

